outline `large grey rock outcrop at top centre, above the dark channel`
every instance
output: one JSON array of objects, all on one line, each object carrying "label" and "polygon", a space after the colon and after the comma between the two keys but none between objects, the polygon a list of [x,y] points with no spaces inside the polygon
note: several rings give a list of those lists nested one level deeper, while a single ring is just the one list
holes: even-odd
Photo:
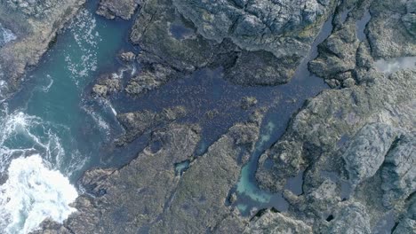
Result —
[{"label": "large grey rock outcrop at top centre, above the dark channel", "polygon": [[288,82],[334,2],[148,1],[131,34],[147,66],[126,91],[153,90],[175,77],[172,70],[186,74],[206,66],[224,67],[225,78],[237,84]]}]

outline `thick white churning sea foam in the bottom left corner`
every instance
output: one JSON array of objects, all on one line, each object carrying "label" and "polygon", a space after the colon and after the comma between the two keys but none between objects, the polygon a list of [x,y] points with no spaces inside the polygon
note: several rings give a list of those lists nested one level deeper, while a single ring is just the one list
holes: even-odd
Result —
[{"label": "thick white churning sea foam in the bottom left corner", "polygon": [[0,229],[6,233],[26,234],[46,218],[62,222],[76,211],[69,207],[76,189],[59,171],[46,168],[38,154],[12,160],[8,175],[0,186]]}]

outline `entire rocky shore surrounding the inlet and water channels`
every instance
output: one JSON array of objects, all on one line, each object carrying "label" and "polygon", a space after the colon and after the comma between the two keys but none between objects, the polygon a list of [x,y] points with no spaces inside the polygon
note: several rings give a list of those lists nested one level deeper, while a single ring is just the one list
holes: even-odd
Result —
[{"label": "entire rocky shore surrounding the inlet and water channels", "polygon": [[[294,113],[284,135],[261,154],[255,174],[264,191],[283,192],[287,211],[268,207],[247,217],[233,206],[236,183],[268,111],[247,97],[241,105],[251,114],[201,155],[196,155],[201,126],[182,120],[186,106],[118,113],[125,133],[116,144],[134,144],[148,133],[147,146],[122,168],[85,172],[79,181],[85,192],[73,205],[77,212],[61,224],[45,221],[34,233],[415,233],[416,65],[386,73],[376,61],[416,57],[416,4],[214,2],[101,0],[97,13],[110,20],[137,15],[130,40],[140,52],[120,58],[140,69],[125,81],[101,76],[93,96],[111,100],[122,93],[139,100],[204,68],[222,68],[224,79],[236,86],[281,85],[290,82],[324,22],[332,19],[331,35],[308,63],[330,89]],[[13,9],[31,22],[31,33],[23,34],[26,21],[0,16],[17,35],[0,48],[7,55],[0,56],[0,66],[10,68],[2,70],[15,90],[24,69],[36,65],[83,2],[52,1],[48,11],[38,8],[42,4],[0,3],[0,11]],[[188,166],[178,173],[176,165],[183,162]],[[300,174],[302,190],[294,194],[285,184]]]}]

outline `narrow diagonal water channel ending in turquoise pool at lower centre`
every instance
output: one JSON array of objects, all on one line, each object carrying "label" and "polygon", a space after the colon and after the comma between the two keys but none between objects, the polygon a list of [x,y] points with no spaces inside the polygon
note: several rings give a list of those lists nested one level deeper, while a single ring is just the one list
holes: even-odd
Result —
[{"label": "narrow diagonal water channel ending in turquoise pool at lower centre", "polygon": [[[282,192],[272,193],[261,190],[255,178],[260,155],[275,144],[284,134],[292,114],[296,113],[305,100],[315,97],[320,91],[327,88],[323,80],[308,71],[308,62],[317,57],[317,45],[323,43],[332,32],[332,17],[326,20],[316,41],[312,43],[309,54],[298,66],[292,81],[280,85],[277,89],[281,95],[279,103],[268,110],[260,129],[260,139],[256,144],[249,162],[244,165],[240,179],[236,184],[236,206],[241,214],[249,215],[264,208],[274,207],[278,211],[286,211],[287,201]],[[285,189],[295,194],[302,192],[302,175],[288,178]]]}]

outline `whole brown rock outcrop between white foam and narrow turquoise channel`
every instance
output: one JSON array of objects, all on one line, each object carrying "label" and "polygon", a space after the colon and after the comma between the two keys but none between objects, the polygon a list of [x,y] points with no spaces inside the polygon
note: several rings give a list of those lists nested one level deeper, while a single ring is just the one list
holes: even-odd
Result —
[{"label": "whole brown rock outcrop between white foam and narrow turquoise channel", "polygon": [[[226,227],[242,230],[243,220],[226,200],[260,133],[261,114],[237,123],[194,159],[200,129],[171,124],[152,133],[137,159],[119,169],[92,169],[81,180],[85,194],[77,212],[41,233],[196,233]],[[175,164],[191,160],[182,175]],[[132,202],[132,200],[134,202]],[[224,220],[229,222],[223,223]],[[234,223],[234,224],[232,224]],[[230,226],[235,225],[235,226]]]}]

